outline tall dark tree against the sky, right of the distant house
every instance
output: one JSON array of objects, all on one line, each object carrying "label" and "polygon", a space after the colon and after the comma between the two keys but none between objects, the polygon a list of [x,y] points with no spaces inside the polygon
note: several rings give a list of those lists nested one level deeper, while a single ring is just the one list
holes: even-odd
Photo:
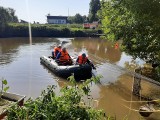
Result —
[{"label": "tall dark tree against the sky, right of the distant house", "polygon": [[89,8],[89,22],[98,21],[97,11],[100,9],[100,0],[91,0]]}]

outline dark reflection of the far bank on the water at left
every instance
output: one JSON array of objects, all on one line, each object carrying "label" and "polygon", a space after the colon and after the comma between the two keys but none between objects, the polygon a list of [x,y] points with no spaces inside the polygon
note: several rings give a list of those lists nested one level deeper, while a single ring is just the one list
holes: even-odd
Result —
[{"label": "dark reflection of the far bank on the water at left", "polygon": [[[53,38],[33,38],[32,45],[43,44],[46,42],[59,42]],[[58,43],[57,43],[58,44]],[[0,64],[8,64],[15,60],[18,52],[21,51],[21,45],[29,46],[29,38],[1,38],[0,39]],[[54,44],[53,44],[54,45]]]}]

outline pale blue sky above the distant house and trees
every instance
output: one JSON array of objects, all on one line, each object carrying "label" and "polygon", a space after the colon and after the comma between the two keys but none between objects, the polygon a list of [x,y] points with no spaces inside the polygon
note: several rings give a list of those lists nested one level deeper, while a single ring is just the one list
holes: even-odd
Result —
[{"label": "pale blue sky above the distant house and trees", "polygon": [[0,0],[0,6],[13,8],[18,19],[47,23],[51,16],[88,15],[91,0]]}]

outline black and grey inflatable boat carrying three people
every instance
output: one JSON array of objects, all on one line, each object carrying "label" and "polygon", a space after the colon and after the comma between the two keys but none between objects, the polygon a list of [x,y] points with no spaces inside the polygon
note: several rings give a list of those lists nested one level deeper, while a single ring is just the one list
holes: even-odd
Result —
[{"label": "black and grey inflatable boat carrying three people", "polygon": [[59,65],[54,59],[46,56],[41,56],[40,62],[53,73],[63,78],[68,78],[72,74],[74,74],[76,80],[85,80],[92,77],[92,67],[89,64],[64,66]]}]

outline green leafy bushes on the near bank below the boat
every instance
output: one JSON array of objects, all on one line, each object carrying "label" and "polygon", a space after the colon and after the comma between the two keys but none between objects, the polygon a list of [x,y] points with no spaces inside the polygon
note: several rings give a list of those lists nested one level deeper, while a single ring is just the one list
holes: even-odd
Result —
[{"label": "green leafy bushes on the near bank below the boat", "polygon": [[48,86],[40,97],[28,99],[24,106],[12,106],[8,110],[8,120],[103,120],[106,118],[102,110],[96,110],[84,102],[83,96],[89,95],[89,84],[98,81],[100,77],[88,79],[78,85],[74,77],[69,77],[71,86],[61,88],[61,95],[56,96],[55,86]]}]

